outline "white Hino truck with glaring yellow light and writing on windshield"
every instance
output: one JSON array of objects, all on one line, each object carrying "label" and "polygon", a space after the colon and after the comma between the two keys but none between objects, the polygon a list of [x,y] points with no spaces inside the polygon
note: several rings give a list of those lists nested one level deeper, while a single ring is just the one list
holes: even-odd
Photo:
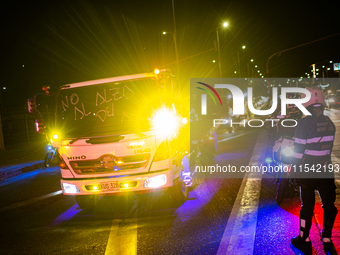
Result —
[{"label": "white Hino truck with glaring yellow light and writing on windshield", "polygon": [[[36,127],[57,148],[63,194],[80,208],[131,193],[188,198],[194,174],[189,101],[170,70],[66,84],[53,100],[54,125],[38,114]],[[29,100],[31,113],[38,105]]]}]

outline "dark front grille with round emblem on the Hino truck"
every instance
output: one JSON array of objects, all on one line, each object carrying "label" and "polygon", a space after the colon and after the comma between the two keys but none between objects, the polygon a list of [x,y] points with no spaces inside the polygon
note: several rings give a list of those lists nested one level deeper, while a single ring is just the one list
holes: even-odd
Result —
[{"label": "dark front grille with round emblem on the Hino truck", "polygon": [[70,165],[77,174],[109,173],[132,169],[143,169],[148,165],[149,159],[149,153],[127,157],[103,155],[95,160],[70,161]]}]

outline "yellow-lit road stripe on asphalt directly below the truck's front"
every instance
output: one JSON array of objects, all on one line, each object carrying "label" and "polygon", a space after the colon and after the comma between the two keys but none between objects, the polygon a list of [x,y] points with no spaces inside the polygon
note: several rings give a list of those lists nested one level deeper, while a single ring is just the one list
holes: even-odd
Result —
[{"label": "yellow-lit road stripe on asphalt directly below the truck's front", "polygon": [[137,254],[137,206],[138,198],[127,213],[128,219],[112,221],[105,255]]}]

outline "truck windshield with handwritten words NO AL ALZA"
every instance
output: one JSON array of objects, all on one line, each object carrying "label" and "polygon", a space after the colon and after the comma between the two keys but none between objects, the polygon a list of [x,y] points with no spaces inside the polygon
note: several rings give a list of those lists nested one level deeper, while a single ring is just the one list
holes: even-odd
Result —
[{"label": "truck windshield with handwritten words NO AL ALZA", "polygon": [[160,106],[151,78],[63,89],[57,127],[64,138],[139,133],[150,130],[150,118]]}]

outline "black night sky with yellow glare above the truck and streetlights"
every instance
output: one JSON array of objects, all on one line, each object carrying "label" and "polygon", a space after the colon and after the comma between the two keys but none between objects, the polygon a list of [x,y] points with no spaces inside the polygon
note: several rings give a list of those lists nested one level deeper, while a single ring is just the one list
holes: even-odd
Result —
[{"label": "black night sky with yellow glare above the truck and streetlights", "polygon": [[[339,1],[175,0],[180,79],[224,77],[255,61],[262,73],[275,52],[340,33]],[[230,26],[222,28],[223,21]],[[171,0],[8,1],[1,4],[2,110],[22,109],[42,86],[169,67],[176,74]],[[300,77],[312,63],[340,62],[340,36],[275,56],[272,77]],[[241,46],[246,45],[242,50]],[[208,51],[207,53],[190,56]],[[216,60],[213,63],[212,60]],[[251,66],[250,66],[251,69]]]}]

